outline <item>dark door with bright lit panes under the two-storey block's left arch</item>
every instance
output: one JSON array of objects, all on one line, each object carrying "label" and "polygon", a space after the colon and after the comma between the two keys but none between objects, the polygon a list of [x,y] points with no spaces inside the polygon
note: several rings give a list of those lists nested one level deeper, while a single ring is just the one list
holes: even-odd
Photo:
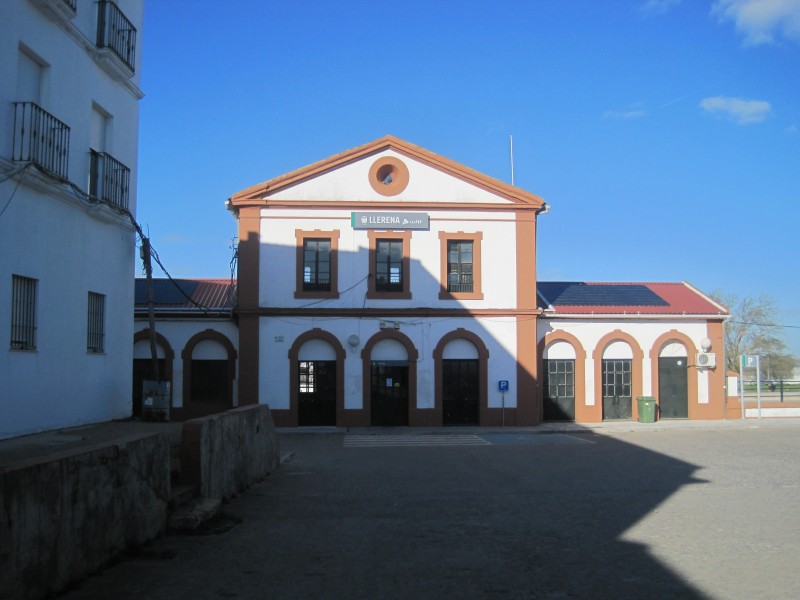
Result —
[{"label": "dark door with bright lit panes under the two-storey block's left arch", "polygon": [[336,361],[300,361],[298,364],[299,425],[336,425]]}]

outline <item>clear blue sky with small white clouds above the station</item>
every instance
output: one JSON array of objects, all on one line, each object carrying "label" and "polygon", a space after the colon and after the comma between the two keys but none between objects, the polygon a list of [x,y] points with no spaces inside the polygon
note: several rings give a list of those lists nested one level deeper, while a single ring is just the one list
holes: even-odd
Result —
[{"label": "clear blue sky with small white clouds above the station", "polygon": [[540,280],[766,293],[800,356],[800,0],[150,0],[139,222],[228,277],[233,193],[392,134],[551,205]]}]

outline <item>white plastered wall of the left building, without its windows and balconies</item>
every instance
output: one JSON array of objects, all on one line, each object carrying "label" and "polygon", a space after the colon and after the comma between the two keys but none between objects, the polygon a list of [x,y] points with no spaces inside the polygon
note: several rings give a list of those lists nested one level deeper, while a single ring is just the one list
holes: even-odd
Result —
[{"label": "white plastered wall of the left building, without its windows and balconies", "polygon": [[[115,79],[97,60],[97,5],[56,23],[28,0],[0,2],[0,179],[12,163],[20,47],[44,63],[44,110],[70,127],[69,180],[87,189],[94,103],[113,117],[109,152],[131,169],[136,207],[142,0],[118,3],[139,30],[136,74]],[[91,206],[29,168],[0,183],[0,438],[131,414],[134,232],[128,219]],[[38,280],[37,348],[10,350],[12,275]],[[87,353],[88,293],[105,295],[105,351]]]}]

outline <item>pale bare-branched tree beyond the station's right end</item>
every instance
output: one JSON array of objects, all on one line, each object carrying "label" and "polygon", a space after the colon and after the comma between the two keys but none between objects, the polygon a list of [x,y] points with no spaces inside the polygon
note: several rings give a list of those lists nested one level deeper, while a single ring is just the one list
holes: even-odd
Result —
[{"label": "pale bare-branched tree beyond the station's right end", "polygon": [[742,354],[758,354],[762,378],[791,378],[797,359],[786,352],[781,326],[775,323],[775,299],[767,294],[740,298],[722,291],[711,296],[731,311],[725,322],[725,367],[738,372]]}]

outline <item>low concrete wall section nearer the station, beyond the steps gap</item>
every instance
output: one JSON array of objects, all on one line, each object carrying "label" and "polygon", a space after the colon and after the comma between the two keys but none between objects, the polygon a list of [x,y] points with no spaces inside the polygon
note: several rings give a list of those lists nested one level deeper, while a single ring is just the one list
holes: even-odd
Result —
[{"label": "low concrete wall section nearer the station, beyond the steps gap", "polygon": [[204,498],[230,498],[269,475],[279,460],[278,434],[266,404],[183,424],[181,481],[197,486]]}]

